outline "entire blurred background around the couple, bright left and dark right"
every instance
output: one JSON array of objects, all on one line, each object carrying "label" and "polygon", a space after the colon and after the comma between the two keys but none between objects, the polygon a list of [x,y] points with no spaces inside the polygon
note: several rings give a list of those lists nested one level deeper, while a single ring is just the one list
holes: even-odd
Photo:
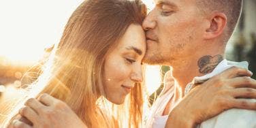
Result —
[{"label": "entire blurred background around the couple, bright left and dark right", "polygon": [[[71,13],[82,0],[1,0],[0,1],[0,101],[15,95],[20,79],[28,70],[37,69],[52,44],[59,42]],[[144,0],[148,10],[153,1]],[[244,0],[243,12],[234,35],[229,40],[226,57],[229,61],[248,61],[256,78],[256,1]],[[163,74],[170,67],[147,66],[148,95],[161,91]],[[156,91],[157,90],[157,91]],[[5,96],[3,93],[5,92]],[[155,93],[154,93],[155,92]],[[5,97],[5,98],[4,98]],[[3,103],[3,102],[2,102]]]}]

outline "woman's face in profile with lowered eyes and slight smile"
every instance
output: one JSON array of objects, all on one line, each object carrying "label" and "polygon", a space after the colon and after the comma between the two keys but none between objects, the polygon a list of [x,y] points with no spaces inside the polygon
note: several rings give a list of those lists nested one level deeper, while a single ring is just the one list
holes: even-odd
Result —
[{"label": "woman's face in profile with lowered eyes and slight smile", "polygon": [[145,34],[140,25],[130,25],[118,46],[108,54],[104,65],[103,88],[106,98],[121,104],[136,82],[142,82],[142,58],[146,52]]}]

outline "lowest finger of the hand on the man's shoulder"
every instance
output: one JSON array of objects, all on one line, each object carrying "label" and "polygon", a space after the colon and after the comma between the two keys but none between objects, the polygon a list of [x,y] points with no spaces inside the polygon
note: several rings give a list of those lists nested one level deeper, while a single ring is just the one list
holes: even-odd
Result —
[{"label": "lowest finger of the hand on the man's shoulder", "polygon": [[256,110],[256,99],[231,99],[230,102],[234,108]]}]

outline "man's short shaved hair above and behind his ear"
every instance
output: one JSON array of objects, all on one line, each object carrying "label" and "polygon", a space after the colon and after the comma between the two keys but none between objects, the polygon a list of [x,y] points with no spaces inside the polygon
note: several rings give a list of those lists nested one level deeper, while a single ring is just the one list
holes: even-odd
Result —
[{"label": "man's short shaved hair above and behind his ear", "polygon": [[196,4],[204,14],[217,11],[223,12],[227,16],[227,32],[225,34],[225,41],[227,42],[240,18],[242,0],[196,0]]}]

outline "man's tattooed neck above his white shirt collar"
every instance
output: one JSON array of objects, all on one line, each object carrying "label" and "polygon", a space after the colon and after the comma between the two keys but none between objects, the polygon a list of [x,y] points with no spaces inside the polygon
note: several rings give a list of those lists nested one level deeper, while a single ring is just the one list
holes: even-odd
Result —
[{"label": "man's tattooed neck above his white shirt collar", "polygon": [[174,101],[178,101],[185,95],[185,88],[195,76],[204,76],[212,72],[217,65],[223,60],[223,51],[208,54],[195,54],[193,57],[180,59],[173,62],[172,74],[176,79],[177,86],[174,93]]}]

